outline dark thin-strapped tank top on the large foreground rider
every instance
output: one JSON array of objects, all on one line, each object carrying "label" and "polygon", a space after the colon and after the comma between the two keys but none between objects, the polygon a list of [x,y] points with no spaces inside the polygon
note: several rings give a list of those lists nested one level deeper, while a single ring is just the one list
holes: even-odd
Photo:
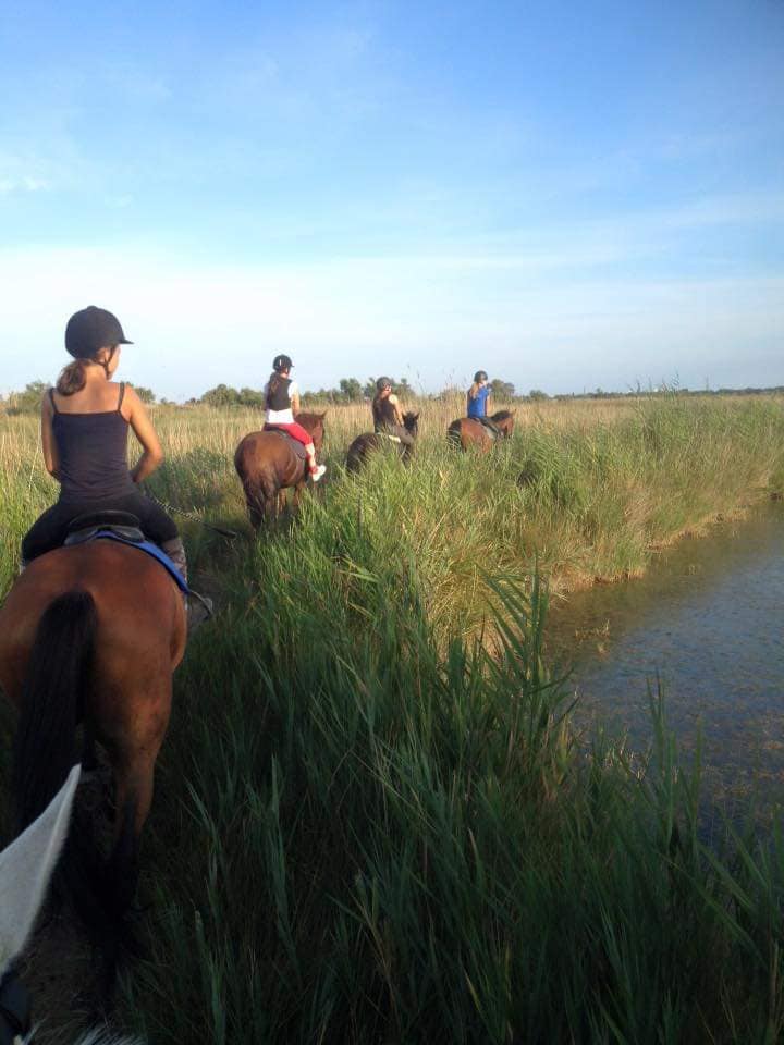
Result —
[{"label": "dark thin-strapped tank top on the large foreground rider", "polygon": [[115,410],[62,414],[49,390],[54,416],[52,435],[60,463],[60,500],[69,504],[107,501],[136,491],[127,466],[128,422],[120,413],[125,384],[120,385]]}]

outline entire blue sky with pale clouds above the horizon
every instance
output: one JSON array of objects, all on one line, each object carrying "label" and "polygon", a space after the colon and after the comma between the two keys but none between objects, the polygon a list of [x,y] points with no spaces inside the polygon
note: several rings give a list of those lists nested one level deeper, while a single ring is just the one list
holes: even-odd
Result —
[{"label": "entire blue sky with pale clouds above the horizon", "polygon": [[784,2],[0,0],[0,390],[784,383]]}]

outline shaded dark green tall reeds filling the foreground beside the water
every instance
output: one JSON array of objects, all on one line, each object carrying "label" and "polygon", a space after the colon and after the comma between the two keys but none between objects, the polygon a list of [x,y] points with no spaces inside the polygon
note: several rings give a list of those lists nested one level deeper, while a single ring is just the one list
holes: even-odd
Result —
[{"label": "shaded dark green tall reeds filling the foreground beside the water", "polygon": [[[443,650],[415,575],[357,627],[257,582],[179,677],[146,841],[154,1042],[775,1042],[784,845],[698,834],[699,764],[586,754],[540,659]],[[368,581],[368,583],[372,583]],[[218,634],[216,634],[216,631]]]}]

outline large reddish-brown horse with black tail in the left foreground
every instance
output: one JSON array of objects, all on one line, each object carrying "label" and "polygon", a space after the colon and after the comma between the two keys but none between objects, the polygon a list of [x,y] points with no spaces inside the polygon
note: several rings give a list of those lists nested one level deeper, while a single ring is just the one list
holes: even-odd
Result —
[{"label": "large reddish-brown horse with black tail in the left foreground", "polygon": [[17,832],[30,824],[98,740],[114,783],[108,856],[89,819],[72,825],[61,881],[103,951],[107,985],[136,887],[142,827],[169,723],[172,673],[185,651],[185,607],[167,571],[114,541],[34,560],[0,608],[0,686],[19,709],[12,794]]}]

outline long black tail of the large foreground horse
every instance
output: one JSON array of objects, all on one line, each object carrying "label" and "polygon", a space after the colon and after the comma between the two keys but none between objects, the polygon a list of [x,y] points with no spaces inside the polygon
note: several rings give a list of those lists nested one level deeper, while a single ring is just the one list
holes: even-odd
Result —
[{"label": "long black tail of the large foreground horse", "polygon": [[13,757],[16,829],[24,831],[65,783],[76,759],[76,725],[93,672],[93,595],[66,591],[44,611],[22,691]]}]

